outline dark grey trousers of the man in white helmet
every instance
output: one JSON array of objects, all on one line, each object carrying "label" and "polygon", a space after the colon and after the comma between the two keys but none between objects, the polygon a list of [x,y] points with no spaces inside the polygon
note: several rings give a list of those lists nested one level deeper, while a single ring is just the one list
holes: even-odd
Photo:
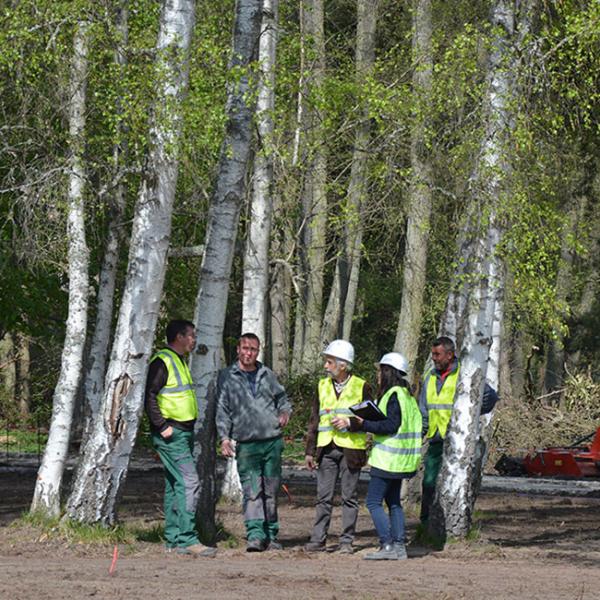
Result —
[{"label": "dark grey trousers of the man in white helmet", "polygon": [[354,540],[358,518],[358,478],[360,469],[350,469],[340,448],[328,447],[317,470],[317,514],[311,542],[325,543],[333,510],[333,495],[338,475],[342,489],[342,533],[340,544],[351,544]]}]

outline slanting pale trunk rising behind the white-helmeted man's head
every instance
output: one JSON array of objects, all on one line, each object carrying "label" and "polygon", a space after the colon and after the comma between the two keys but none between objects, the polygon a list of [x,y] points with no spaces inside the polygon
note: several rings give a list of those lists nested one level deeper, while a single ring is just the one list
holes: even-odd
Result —
[{"label": "slanting pale trunk rising behind the white-helmeted man's head", "polygon": [[[375,62],[375,33],[379,0],[358,0],[356,20],[356,85],[368,80]],[[368,147],[371,136],[369,107],[360,108],[355,127],[350,181],[346,198],[343,248],[336,259],[333,284],[325,310],[322,344],[334,338],[350,339],[356,308],[362,255],[364,204],[368,188]]]}]

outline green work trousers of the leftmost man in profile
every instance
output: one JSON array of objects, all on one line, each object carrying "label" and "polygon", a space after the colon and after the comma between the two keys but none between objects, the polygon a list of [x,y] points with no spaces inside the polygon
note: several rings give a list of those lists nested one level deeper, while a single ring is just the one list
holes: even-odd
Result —
[{"label": "green work trousers of the leftmost man in profile", "polygon": [[165,542],[170,548],[198,544],[200,481],[192,455],[193,432],[173,428],[173,435],[166,440],[152,433],[152,443],[165,468]]}]

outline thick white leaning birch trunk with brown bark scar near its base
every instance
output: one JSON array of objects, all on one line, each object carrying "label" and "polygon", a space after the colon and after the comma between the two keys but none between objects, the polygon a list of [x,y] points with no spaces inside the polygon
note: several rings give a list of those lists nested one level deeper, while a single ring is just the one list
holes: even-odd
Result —
[{"label": "thick white leaning birch trunk with brown bark scar near its base", "polygon": [[82,522],[115,522],[143,409],[171,232],[193,25],[193,0],[163,3],[151,150],[135,208],[127,279],[98,418],[83,448],[67,507],[67,516]]}]

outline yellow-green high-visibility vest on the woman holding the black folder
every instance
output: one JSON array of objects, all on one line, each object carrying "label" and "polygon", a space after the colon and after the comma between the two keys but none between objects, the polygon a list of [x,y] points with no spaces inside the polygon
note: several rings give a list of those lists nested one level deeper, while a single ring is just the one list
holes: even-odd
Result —
[{"label": "yellow-green high-visibility vest on the woman holding the black folder", "polygon": [[373,436],[369,464],[390,473],[411,473],[421,464],[421,412],[417,401],[403,387],[390,388],[379,401],[379,410],[387,415],[387,404],[396,393],[402,422],[394,435]]}]

